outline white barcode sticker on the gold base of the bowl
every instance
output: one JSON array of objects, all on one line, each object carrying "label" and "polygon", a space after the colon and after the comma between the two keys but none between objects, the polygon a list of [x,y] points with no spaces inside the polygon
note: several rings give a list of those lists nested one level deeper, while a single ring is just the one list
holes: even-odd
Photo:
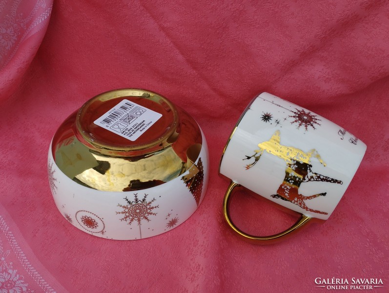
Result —
[{"label": "white barcode sticker on the gold base of the bowl", "polygon": [[135,141],[162,117],[162,114],[128,100],[114,106],[94,124]]}]

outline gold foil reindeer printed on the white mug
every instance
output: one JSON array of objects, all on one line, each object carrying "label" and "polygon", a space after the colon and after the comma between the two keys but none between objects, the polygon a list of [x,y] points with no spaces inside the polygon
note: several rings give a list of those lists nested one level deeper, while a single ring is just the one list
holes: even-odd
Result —
[{"label": "gold foil reindeer printed on the white mug", "polygon": [[287,164],[285,169],[285,178],[278,188],[277,193],[271,195],[271,197],[289,201],[308,211],[328,214],[324,211],[310,209],[305,204],[306,200],[316,198],[318,196],[326,196],[327,192],[304,196],[299,193],[298,189],[303,182],[308,181],[324,181],[337,184],[343,184],[343,182],[313,172],[311,170],[312,165],[309,164],[312,157],[318,159],[323,166],[326,166],[326,163],[324,163],[319,153],[315,149],[304,152],[303,150],[292,146],[283,146],[280,143],[280,135],[280,131],[277,130],[268,141],[258,144],[259,149],[255,150],[255,154],[252,156],[246,156],[244,159],[250,160],[254,158],[254,162],[246,165],[246,169],[253,167],[259,161],[264,151],[283,159]]}]

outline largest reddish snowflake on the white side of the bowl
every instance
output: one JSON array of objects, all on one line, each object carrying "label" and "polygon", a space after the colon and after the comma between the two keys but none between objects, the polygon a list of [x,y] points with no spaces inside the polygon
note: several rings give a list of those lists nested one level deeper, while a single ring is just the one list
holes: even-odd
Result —
[{"label": "largest reddish snowflake on the white side of the bowl", "polygon": [[128,205],[118,204],[118,207],[121,207],[122,211],[117,211],[117,214],[123,214],[124,217],[120,219],[121,221],[126,221],[128,225],[131,225],[132,222],[137,222],[138,225],[141,225],[142,220],[150,221],[149,216],[155,216],[157,213],[153,212],[153,209],[158,208],[159,206],[152,206],[152,203],[155,201],[153,198],[151,201],[147,201],[147,194],[144,194],[143,199],[138,198],[138,194],[135,193],[135,200],[129,201],[125,197],[125,201]]}]

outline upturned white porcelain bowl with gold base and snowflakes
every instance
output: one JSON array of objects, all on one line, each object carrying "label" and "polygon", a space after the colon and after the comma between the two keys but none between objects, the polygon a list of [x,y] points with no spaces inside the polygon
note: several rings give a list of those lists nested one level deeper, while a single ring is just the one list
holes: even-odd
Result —
[{"label": "upturned white porcelain bowl with gold base and snowflakes", "polygon": [[178,227],[201,204],[208,149],[183,109],[151,91],[119,89],[59,126],[47,168],[70,224],[102,238],[141,239]]}]

